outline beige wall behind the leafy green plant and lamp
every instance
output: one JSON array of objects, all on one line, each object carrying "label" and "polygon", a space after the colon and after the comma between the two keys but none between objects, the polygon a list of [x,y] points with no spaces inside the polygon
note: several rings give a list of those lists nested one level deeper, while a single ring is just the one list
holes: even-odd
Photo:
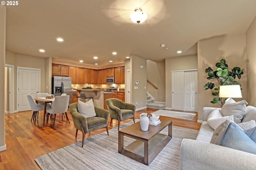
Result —
[{"label": "beige wall behind the leafy green plant and lamp", "polygon": [[[222,38],[214,38],[198,42],[198,120],[202,120],[203,107],[218,107],[212,104],[213,99],[211,92],[205,91],[203,86],[208,82],[205,69],[212,67],[216,69],[215,64],[224,58],[230,70],[233,67],[244,69],[241,79],[236,78],[242,85],[242,99],[234,99],[236,101],[247,99],[247,83],[246,83],[246,36],[239,34],[234,36],[224,36]],[[215,85],[219,86],[212,80]]]}]

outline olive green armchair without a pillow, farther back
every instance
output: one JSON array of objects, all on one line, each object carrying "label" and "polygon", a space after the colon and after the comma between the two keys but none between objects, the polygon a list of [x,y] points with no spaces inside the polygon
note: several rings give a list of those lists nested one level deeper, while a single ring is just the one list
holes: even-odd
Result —
[{"label": "olive green armchair without a pillow, farther back", "polygon": [[118,130],[120,127],[120,121],[124,121],[127,119],[132,119],[134,121],[134,115],[136,106],[130,103],[125,103],[116,98],[106,99],[106,103],[108,105],[108,111],[110,112],[110,126],[112,124],[112,119],[118,120]]}]

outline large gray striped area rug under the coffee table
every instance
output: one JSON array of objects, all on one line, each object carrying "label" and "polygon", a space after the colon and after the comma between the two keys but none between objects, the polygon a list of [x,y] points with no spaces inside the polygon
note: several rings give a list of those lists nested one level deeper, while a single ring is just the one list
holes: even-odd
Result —
[{"label": "large gray striped area rug under the coffee table", "polygon": [[[138,119],[136,119],[136,122]],[[132,125],[121,125],[120,128]],[[140,129],[138,129],[140,130]],[[168,134],[165,128],[160,133]],[[42,170],[178,170],[180,163],[180,144],[183,138],[195,139],[198,130],[172,127],[172,139],[151,162],[149,166],[118,153],[118,129],[76,142],[35,159]],[[124,147],[134,139],[124,136]]]}]

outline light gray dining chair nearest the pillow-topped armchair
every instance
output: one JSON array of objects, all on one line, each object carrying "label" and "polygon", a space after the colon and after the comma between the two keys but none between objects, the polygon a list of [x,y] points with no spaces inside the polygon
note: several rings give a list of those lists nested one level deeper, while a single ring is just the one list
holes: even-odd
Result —
[{"label": "light gray dining chair nearest the pillow-topped armchair", "polygon": [[68,115],[67,115],[67,111],[68,111],[68,103],[69,103],[69,95],[66,96],[56,96],[54,99],[54,102],[52,103],[52,107],[50,109],[48,109],[47,111],[47,122],[48,123],[48,118],[51,114],[54,114],[54,122],[53,122],[53,127],[54,127],[54,123],[55,123],[55,119],[56,119],[56,114],[58,113],[65,113],[66,114],[66,119],[68,120]]}]

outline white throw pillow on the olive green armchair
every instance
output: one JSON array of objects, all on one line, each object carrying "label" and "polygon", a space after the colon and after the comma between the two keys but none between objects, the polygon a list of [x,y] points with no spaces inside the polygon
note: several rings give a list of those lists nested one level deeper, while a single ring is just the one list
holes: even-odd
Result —
[{"label": "white throw pillow on the olive green armchair", "polygon": [[86,103],[78,101],[78,113],[83,115],[85,118],[96,116],[92,99]]}]

